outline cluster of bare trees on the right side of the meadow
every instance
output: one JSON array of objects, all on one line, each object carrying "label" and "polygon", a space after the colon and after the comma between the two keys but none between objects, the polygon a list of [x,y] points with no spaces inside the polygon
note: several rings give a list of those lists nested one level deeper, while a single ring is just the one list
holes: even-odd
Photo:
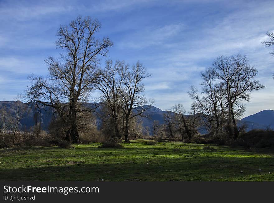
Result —
[{"label": "cluster of bare trees on the right side of the meadow", "polygon": [[213,136],[227,134],[237,139],[237,118],[243,115],[244,101],[264,86],[256,80],[257,69],[246,56],[218,57],[212,67],[201,72],[201,93],[191,87],[189,95],[200,105],[205,126]]}]

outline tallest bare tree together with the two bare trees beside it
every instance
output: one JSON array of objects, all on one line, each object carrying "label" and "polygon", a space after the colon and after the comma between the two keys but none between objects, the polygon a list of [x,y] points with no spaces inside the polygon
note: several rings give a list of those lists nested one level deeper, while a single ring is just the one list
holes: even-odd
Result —
[{"label": "tallest bare tree together with the two bare trees beside it", "polygon": [[100,60],[113,45],[108,37],[95,38],[100,28],[96,19],[82,16],[69,26],[61,25],[55,45],[63,52],[58,59],[45,60],[49,75],[30,76],[31,85],[26,90],[28,102],[40,104],[40,108],[54,108],[56,119],[65,126],[66,139],[73,143],[80,143],[78,131],[83,128],[80,121],[94,110],[84,105],[93,90],[99,90],[102,95],[104,125],[114,129],[108,133],[120,140],[124,136],[126,142],[129,142],[131,119],[144,116],[150,106],[144,104],[153,103],[147,102],[143,95],[142,80],[150,74],[139,61],[130,66],[124,61],[107,60],[105,68],[99,67]]}]

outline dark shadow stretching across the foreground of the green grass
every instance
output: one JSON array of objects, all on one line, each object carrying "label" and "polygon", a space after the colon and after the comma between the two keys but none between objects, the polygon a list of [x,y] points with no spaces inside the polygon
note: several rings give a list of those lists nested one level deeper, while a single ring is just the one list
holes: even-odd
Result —
[{"label": "dark shadow stretching across the foreground of the green grass", "polygon": [[[0,168],[1,181],[274,181],[270,166],[273,158],[163,158],[117,159],[115,163],[85,164],[71,162],[63,166]],[[263,164],[262,164],[263,163]],[[263,168],[263,171],[259,171]],[[242,173],[242,172],[243,173]],[[271,172],[271,173],[269,173]]]}]

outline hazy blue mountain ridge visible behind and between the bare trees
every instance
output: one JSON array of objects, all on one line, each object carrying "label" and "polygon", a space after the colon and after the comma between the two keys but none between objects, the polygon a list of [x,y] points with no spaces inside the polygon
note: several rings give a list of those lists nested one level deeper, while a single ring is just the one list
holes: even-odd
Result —
[{"label": "hazy blue mountain ridge visible behind and between the bare trees", "polygon": [[[12,117],[15,116],[15,112],[12,109],[12,105],[14,105],[14,101],[0,101],[0,110],[6,106],[7,112]],[[34,114],[38,112],[38,109],[35,108],[33,104],[24,104],[27,106],[27,111],[24,114],[23,118],[20,121],[19,127],[20,129],[30,129],[30,127],[34,126]],[[84,105],[94,108],[96,104],[93,103],[85,103]],[[98,114],[101,113],[101,108],[97,108],[95,110]],[[148,117],[139,117],[143,121],[143,127],[149,127],[149,131],[152,134],[153,132],[153,122],[157,120],[159,124],[163,124],[164,115],[168,113],[168,111],[162,111],[160,108],[155,106],[151,106],[145,114]],[[173,112],[171,112],[173,113]],[[50,107],[46,107],[45,109],[41,109],[41,117],[42,117],[42,128],[47,129],[50,124],[51,116],[53,114],[53,110]],[[186,115],[188,116],[188,115]],[[97,118],[97,123],[100,123],[100,118]],[[263,110],[261,112],[255,113],[253,115],[247,116],[238,121],[240,124],[245,124],[247,126],[247,131],[252,129],[274,129],[274,111],[273,110]],[[199,130],[201,133],[205,133],[205,129]]]}]

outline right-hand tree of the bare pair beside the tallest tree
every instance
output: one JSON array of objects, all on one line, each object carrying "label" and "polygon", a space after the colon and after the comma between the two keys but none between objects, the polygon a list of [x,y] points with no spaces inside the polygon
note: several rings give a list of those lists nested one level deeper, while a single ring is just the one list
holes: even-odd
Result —
[{"label": "right-hand tree of the bare pair beside the tallest tree", "polygon": [[[120,95],[123,97],[123,104],[119,105],[124,113],[124,136],[125,142],[129,140],[129,121],[136,116],[147,116],[145,111],[151,107],[154,101],[147,102],[143,95],[144,84],[142,80],[151,76],[146,68],[138,61],[127,71],[123,79],[123,88]],[[132,111],[134,109],[134,112]]]}]

